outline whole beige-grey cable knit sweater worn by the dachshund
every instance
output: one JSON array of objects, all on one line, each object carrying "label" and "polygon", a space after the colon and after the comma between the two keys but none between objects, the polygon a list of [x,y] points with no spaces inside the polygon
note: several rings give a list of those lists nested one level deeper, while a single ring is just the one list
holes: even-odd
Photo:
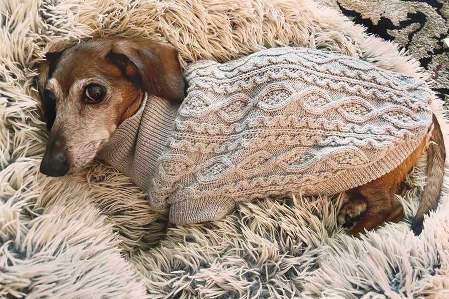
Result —
[{"label": "whole beige-grey cable knit sweater worn by the dachshund", "polygon": [[425,82],[332,52],[273,48],[185,76],[180,107],[148,96],[99,153],[177,224],[220,219],[236,201],[365,184],[432,123]]}]

